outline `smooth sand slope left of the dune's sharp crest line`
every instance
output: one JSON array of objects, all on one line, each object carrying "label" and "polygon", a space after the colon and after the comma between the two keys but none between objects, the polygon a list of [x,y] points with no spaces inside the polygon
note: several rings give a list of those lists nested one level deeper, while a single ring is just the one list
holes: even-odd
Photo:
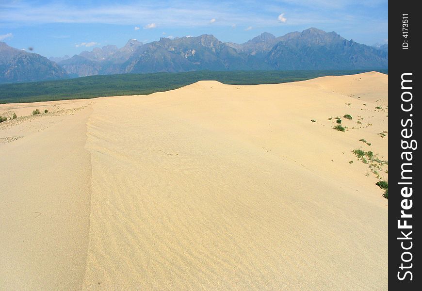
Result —
[{"label": "smooth sand slope left of the dune's sharp crest line", "polygon": [[[41,109],[19,104],[17,112],[34,105]],[[83,146],[91,112],[76,107],[0,124],[0,290],[79,289],[89,234],[91,161]]]}]

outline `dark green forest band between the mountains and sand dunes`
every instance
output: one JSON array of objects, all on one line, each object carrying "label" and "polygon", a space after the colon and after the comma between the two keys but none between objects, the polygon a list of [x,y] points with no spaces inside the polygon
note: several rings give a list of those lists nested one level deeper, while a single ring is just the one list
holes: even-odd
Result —
[{"label": "dark green forest band between the mountains and sand dunes", "polygon": [[[330,75],[351,75],[367,71],[194,71],[90,76],[58,81],[2,84],[0,85],[0,103],[146,95],[177,89],[203,80],[214,80],[233,85],[257,85],[302,81]],[[388,70],[377,71],[388,74]]]}]

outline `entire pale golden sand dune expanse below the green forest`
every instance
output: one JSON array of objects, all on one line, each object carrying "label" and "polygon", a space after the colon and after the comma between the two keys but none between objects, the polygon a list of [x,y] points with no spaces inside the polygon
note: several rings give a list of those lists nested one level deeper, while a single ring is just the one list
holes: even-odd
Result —
[{"label": "entire pale golden sand dune expanse below the green forest", "polygon": [[0,105],[0,290],[387,290],[387,84]]}]

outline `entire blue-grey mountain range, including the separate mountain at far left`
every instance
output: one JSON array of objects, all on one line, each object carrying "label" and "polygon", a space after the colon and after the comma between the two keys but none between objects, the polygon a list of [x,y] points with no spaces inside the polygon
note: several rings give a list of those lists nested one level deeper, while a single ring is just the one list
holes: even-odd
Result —
[{"label": "entire blue-grey mountain range, including the separate mountain at far left", "polygon": [[[15,52],[14,57],[7,57],[10,50]],[[27,61],[16,66],[20,59]],[[42,69],[34,71],[34,67]],[[108,45],[72,57],[50,60],[0,43],[0,81],[3,82],[194,70],[381,68],[388,68],[388,45],[366,46],[347,40],[336,32],[316,28],[280,37],[264,32],[243,44],[225,43],[209,34],[161,38],[146,44],[130,39],[120,49]]]}]

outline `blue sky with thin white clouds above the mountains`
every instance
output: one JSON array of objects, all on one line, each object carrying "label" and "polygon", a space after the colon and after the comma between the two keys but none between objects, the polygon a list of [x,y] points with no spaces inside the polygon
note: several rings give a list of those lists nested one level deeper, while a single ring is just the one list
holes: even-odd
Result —
[{"label": "blue sky with thin white clouds above the mountains", "polygon": [[316,27],[372,45],[388,42],[388,0],[0,0],[0,41],[43,56],[130,39],[213,34],[243,43]]}]

